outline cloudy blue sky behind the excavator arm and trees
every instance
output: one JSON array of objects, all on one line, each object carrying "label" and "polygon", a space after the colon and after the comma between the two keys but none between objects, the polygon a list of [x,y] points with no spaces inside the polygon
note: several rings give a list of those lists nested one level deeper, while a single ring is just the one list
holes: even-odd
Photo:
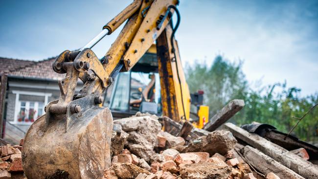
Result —
[{"label": "cloudy blue sky behind the excavator arm and trees", "polygon": [[[43,60],[77,49],[133,0],[0,0],[0,56]],[[242,60],[250,84],[318,92],[317,0],[181,0],[183,66]],[[93,47],[102,57],[120,28]],[[257,88],[257,87],[254,87]]]}]

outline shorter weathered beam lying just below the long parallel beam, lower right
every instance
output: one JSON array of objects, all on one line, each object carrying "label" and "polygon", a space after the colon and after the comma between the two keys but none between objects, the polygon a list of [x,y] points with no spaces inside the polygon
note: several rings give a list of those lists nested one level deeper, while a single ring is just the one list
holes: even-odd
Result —
[{"label": "shorter weathered beam lying just below the long parallel beam, lower right", "polygon": [[245,146],[244,157],[257,170],[267,175],[270,172],[276,174],[280,179],[304,179],[293,170],[285,167],[276,160],[250,146]]}]

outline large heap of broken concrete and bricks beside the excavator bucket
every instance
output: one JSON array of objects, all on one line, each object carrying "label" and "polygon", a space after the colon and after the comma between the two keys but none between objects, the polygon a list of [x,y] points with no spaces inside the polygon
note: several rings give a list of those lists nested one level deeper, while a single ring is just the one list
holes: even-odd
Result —
[{"label": "large heap of broken concrete and bricks beside the excavator bucket", "polygon": [[[230,132],[209,133],[191,127],[184,130],[181,124],[164,120],[170,128],[174,126],[175,135],[161,131],[155,115],[137,113],[115,120],[112,166],[105,170],[103,179],[255,179],[254,175],[257,176],[235,151],[237,140]],[[179,136],[184,131],[188,131],[187,135]],[[191,137],[196,135],[199,137]]]}]

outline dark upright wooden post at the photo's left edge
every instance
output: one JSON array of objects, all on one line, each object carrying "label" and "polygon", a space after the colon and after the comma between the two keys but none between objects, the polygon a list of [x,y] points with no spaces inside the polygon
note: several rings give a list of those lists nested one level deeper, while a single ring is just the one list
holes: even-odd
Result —
[{"label": "dark upright wooden post at the photo's left edge", "polygon": [[2,73],[1,80],[0,80],[0,138],[2,138],[2,132],[3,132],[3,117],[4,117],[5,94],[7,90],[7,80],[8,80],[8,76]]}]

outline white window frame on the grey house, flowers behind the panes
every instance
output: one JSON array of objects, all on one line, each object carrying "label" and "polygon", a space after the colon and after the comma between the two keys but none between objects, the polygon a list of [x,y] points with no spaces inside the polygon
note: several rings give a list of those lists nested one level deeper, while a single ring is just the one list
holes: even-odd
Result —
[{"label": "white window frame on the grey house, flowers behind the panes", "polygon": [[[44,106],[47,105],[47,101],[48,101],[48,97],[52,96],[52,93],[46,93],[46,92],[34,92],[34,91],[21,91],[21,90],[12,90],[13,94],[16,94],[16,101],[15,101],[15,109],[14,109],[14,120],[10,121],[11,124],[22,124],[22,125],[31,125],[32,122],[19,122],[18,121],[18,113],[21,110],[21,101],[19,100],[20,94],[21,95],[29,95],[29,96],[42,96],[44,97]],[[36,106],[36,104],[38,104],[37,102],[35,102],[34,104],[34,108],[37,109],[38,107]],[[25,104],[26,106],[26,104]],[[26,109],[26,107],[25,107]],[[37,112],[38,113],[38,112]],[[36,114],[37,114],[36,113]],[[44,108],[43,108],[43,114],[44,112]],[[34,119],[36,120],[36,119]]]}]

